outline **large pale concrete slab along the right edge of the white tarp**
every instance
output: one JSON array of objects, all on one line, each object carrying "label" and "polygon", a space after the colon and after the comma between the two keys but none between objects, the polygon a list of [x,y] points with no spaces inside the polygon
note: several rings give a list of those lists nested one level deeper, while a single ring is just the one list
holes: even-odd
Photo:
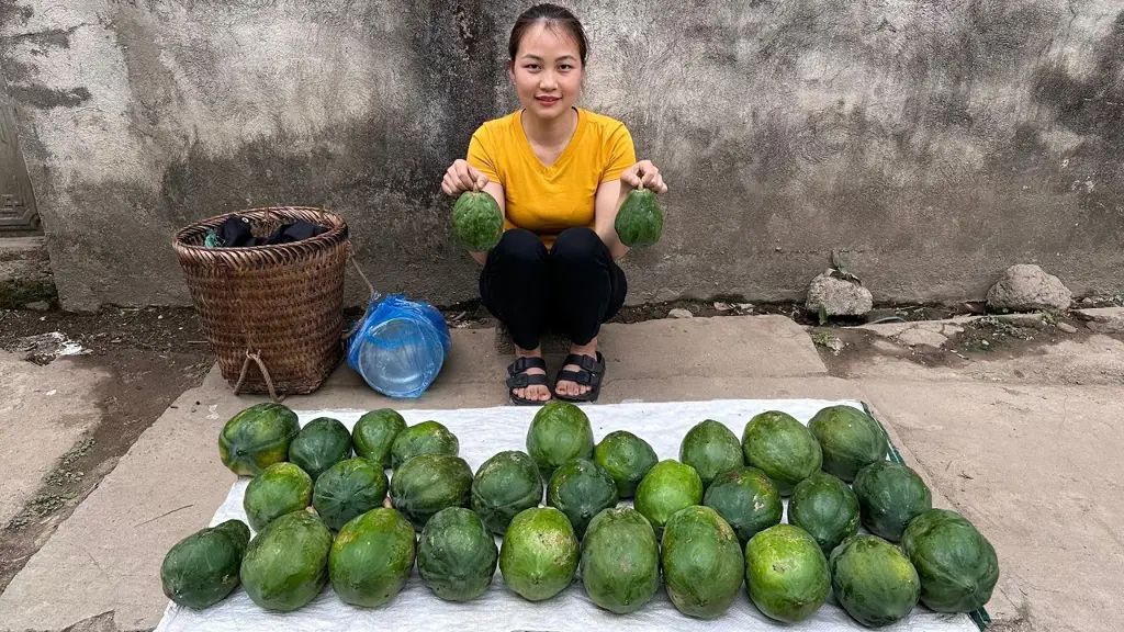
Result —
[{"label": "large pale concrete slab along the right edge of the white tarp", "polygon": [[995,545],[996,621],[1124,630],[1118,387],[860,385],[930,485]]}]

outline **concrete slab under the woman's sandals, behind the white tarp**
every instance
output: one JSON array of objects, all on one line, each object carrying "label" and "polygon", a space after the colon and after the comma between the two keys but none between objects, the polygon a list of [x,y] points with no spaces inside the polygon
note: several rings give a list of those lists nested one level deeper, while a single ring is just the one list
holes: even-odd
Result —
[{"label": "concrete slab under the woman's sandals, behind the white tarp", "polygon": [[[302,398],[301,407],[463,408],[507,404],[504,380],[511,358],[496,350],[495,331],[451,333],[453,345],[446,365],[418,399],[384,397],[344,367],[317,392]],[[599,347],[606,361],[599,399],[605,404],[623,399],[654,401],[655,397],[713,399],[724,397],[724,392],[760,392],[754,383],[764,378],[827,374],[808,333],[783,316],[609,324],[601,329]],[[553,376],[563,360],[562,354],[547,354],[547,372]]]}]

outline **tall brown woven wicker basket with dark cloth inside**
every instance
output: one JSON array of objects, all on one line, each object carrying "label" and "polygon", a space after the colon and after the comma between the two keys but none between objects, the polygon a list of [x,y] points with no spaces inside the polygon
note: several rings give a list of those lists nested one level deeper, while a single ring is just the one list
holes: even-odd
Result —
[{"label": "tall brown woven wicker basket with dark cloth inside", "polygon": [[[254,236],[296,220],[328,231],[289,244],[203,246],[208,229],[232,216],[247,219]],[[285,394],[311,392],[343,359],[351,243],[341,216],[310,207],[241,210],[182,228],[172,246],[203,334],[235,394],[269,392],[280,401]]]}]

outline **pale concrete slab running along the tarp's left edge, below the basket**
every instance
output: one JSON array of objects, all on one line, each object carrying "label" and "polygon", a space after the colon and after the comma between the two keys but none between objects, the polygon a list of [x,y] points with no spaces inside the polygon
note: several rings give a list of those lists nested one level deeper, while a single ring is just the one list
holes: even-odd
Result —
[{"label": "pale concrete slab running along the tarp's left edge, below the basket", "polygon": [[3,629],[63,630],[105,613],[118,630],[154,628],[163,552],[206,526],[235,480],[216,437],[243,405],[212,387],[180,397],[0,595]]}]

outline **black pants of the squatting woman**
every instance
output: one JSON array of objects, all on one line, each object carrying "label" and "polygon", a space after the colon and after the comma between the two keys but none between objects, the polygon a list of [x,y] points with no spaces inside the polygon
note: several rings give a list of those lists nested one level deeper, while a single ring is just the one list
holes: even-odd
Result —
[{"label": "black pants of the squatting woman", "polygon": [[551,328],[588,344],[625,303],[628,285],[590,228],[563,231],[550,251],[529,231],[504,233],[480,273],[480,298],[520,349]]}]

